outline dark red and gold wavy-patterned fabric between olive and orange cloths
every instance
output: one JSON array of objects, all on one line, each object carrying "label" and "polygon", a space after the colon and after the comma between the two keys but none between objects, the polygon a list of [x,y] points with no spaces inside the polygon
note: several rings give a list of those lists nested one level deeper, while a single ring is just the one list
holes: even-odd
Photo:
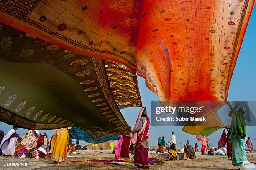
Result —
[{"label": "dark red and gold wavy-patterned fabric between olive and orange cloths", "polygon": [[104,63],[118,107],[120,109],[131,106],[142,107],[136,73],[118,62],[104,60]]}]

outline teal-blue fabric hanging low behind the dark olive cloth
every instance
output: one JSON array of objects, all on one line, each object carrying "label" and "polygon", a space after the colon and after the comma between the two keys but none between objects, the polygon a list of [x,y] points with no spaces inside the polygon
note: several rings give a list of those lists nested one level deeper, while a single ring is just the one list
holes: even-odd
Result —
[{"label": "teal-blue fabric hanging low behind the dark olive cloth", "polygon": [[83,130],[81,128],[74,127],[74,126],[72,126],[72,129],[69,130],[69,133],[72,133],[72,139],[83,140],[88,143],[102,143],[102,142],[107,142],[110,140],[119,140],[120,139],[120,135],[112,135],[107,138],[103,138],[101,140],[95,141],[92,138],[92,136],[89,133],[87,133],[85,130]]}]

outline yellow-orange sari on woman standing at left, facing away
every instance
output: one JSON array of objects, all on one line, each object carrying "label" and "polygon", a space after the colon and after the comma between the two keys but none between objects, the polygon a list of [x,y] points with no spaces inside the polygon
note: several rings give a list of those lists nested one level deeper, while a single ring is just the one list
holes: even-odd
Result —
[{"label": "yellow-orange sari on woman standing at left, facing away", "polygon": [[[59,131],[61,131],[61,133]],[[67,128],[57,129],[51,140],[51,160],[55,162],[66,161],[68,144],[69,132]]]}]

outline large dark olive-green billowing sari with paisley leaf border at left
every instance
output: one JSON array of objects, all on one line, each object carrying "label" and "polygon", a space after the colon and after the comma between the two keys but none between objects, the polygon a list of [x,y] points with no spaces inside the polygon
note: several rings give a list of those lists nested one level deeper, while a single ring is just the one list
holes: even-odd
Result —
[{"label": "large dark olive-green billowing sari with paisley leaf border at left", "polygon": [[76,125],[95,141],[131,132],[112,95],[103,60],[3,23],[1,42],[1,121],[27,129]]}]

